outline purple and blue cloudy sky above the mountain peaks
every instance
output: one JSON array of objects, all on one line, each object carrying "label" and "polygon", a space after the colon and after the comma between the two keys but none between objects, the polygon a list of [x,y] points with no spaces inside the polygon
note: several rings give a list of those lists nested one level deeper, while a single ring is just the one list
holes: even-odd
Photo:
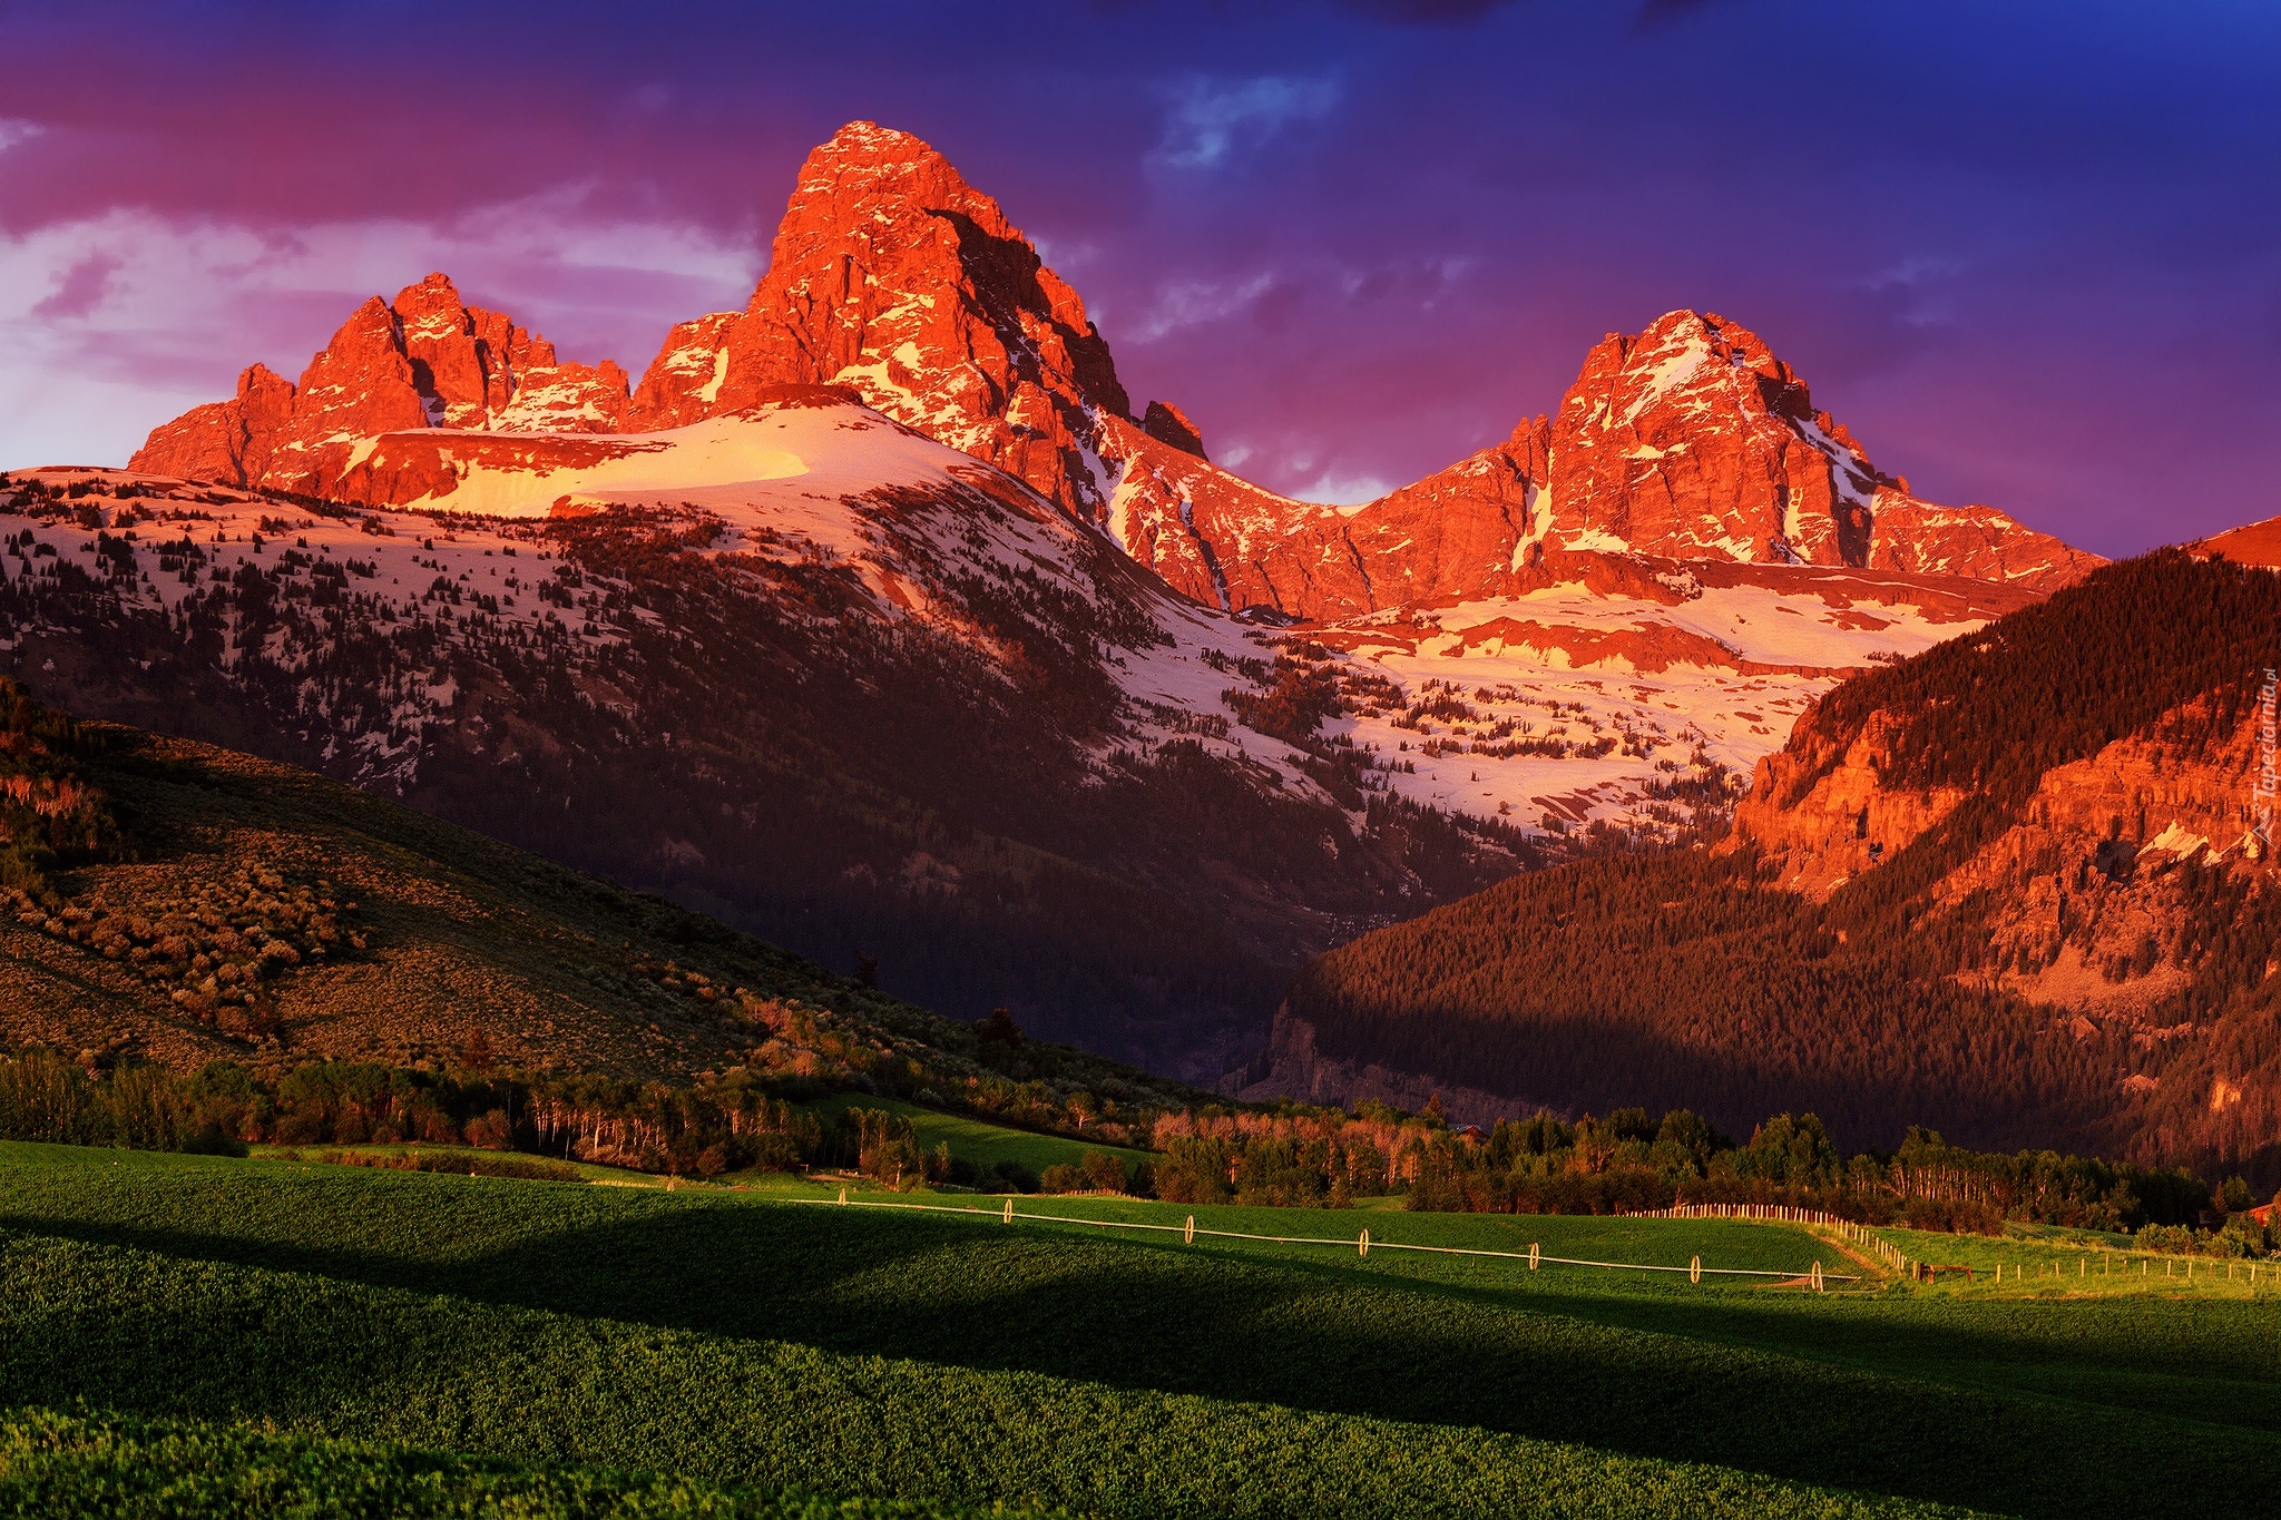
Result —
[{"label": "purple and blue cloudy sky above the mountain peaks", "polygon": [[429,269],[639,374],[867,116],[1293,495],[1697,305],[1934,499],[2103,554],[2281,513],[2270,5],[0,0],[0,467],[123,463]]}]

